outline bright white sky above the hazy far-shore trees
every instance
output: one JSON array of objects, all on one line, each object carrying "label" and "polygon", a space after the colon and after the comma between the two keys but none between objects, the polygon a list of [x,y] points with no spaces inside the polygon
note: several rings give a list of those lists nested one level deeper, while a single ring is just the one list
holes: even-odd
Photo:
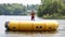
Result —
[{"label": "bright white sky above the hazy far-shore trees", "polygon": [[40,4],[40,0],[0,0],[0,3]]}]

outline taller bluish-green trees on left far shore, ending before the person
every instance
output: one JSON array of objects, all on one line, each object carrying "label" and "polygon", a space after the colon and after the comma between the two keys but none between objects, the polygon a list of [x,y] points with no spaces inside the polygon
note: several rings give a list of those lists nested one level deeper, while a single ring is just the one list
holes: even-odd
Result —
[{"label": "taller bluish-green trees on left far shore, ending before the person", "polygon": [[18,3],[3,3],[0,4],[0,14],[2,15],[14,15],[14,14],[18,14],[21,15],[22,13],[25,14],[25,5],[23,4],[18,4]]}]

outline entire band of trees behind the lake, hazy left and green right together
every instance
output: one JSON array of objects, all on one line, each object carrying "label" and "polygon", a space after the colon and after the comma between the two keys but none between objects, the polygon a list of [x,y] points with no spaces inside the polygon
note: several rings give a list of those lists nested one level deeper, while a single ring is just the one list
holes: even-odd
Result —
[{"label": "entire band of trees behind the lake, hazy left and green right together", "polygon": [[65,18],[65,0],[41,0],[41,4],[0,4],[0,15],[27,15],[31,10],[42,18]]}]

